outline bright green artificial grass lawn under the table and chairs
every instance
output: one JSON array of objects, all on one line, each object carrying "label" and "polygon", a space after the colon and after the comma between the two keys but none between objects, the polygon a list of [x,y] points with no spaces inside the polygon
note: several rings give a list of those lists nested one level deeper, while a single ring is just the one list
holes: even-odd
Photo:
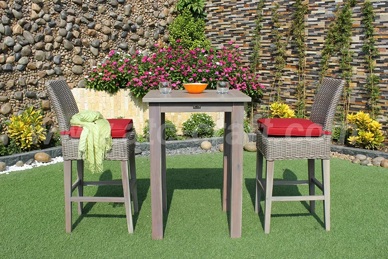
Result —
[{"label": "bright green artificial grass lawn under the table and chairs", "polygon": [[[256,153],[244,152],[242,238],[230,239],[221,207],[222,153],[167,156],[164,239],[154,241],[149,158],[137,157],[136,167],[134,234],[123,205],[103,202],[84,203],[82,215],[73,203],[74,229],[66,234],[62,163],[0,175],[0,258],[388,257],[388,169],[332,159],[331,231],[323,228],[322,201],[315,215],[307,202],[274,202],[267,235],[262,210],[254,211]],[[121,179],[119,168],[107,161],[102,174],[86,171],[85,180]],[[317,162],[321,179],[319,169]],[[275,178],[307,179],[307,161],[275,162]],[[307,185],[274,187],[274,195],[299,193],[307,195]],[[122,196],[122,187],[85,187],[84,195]]]}]

